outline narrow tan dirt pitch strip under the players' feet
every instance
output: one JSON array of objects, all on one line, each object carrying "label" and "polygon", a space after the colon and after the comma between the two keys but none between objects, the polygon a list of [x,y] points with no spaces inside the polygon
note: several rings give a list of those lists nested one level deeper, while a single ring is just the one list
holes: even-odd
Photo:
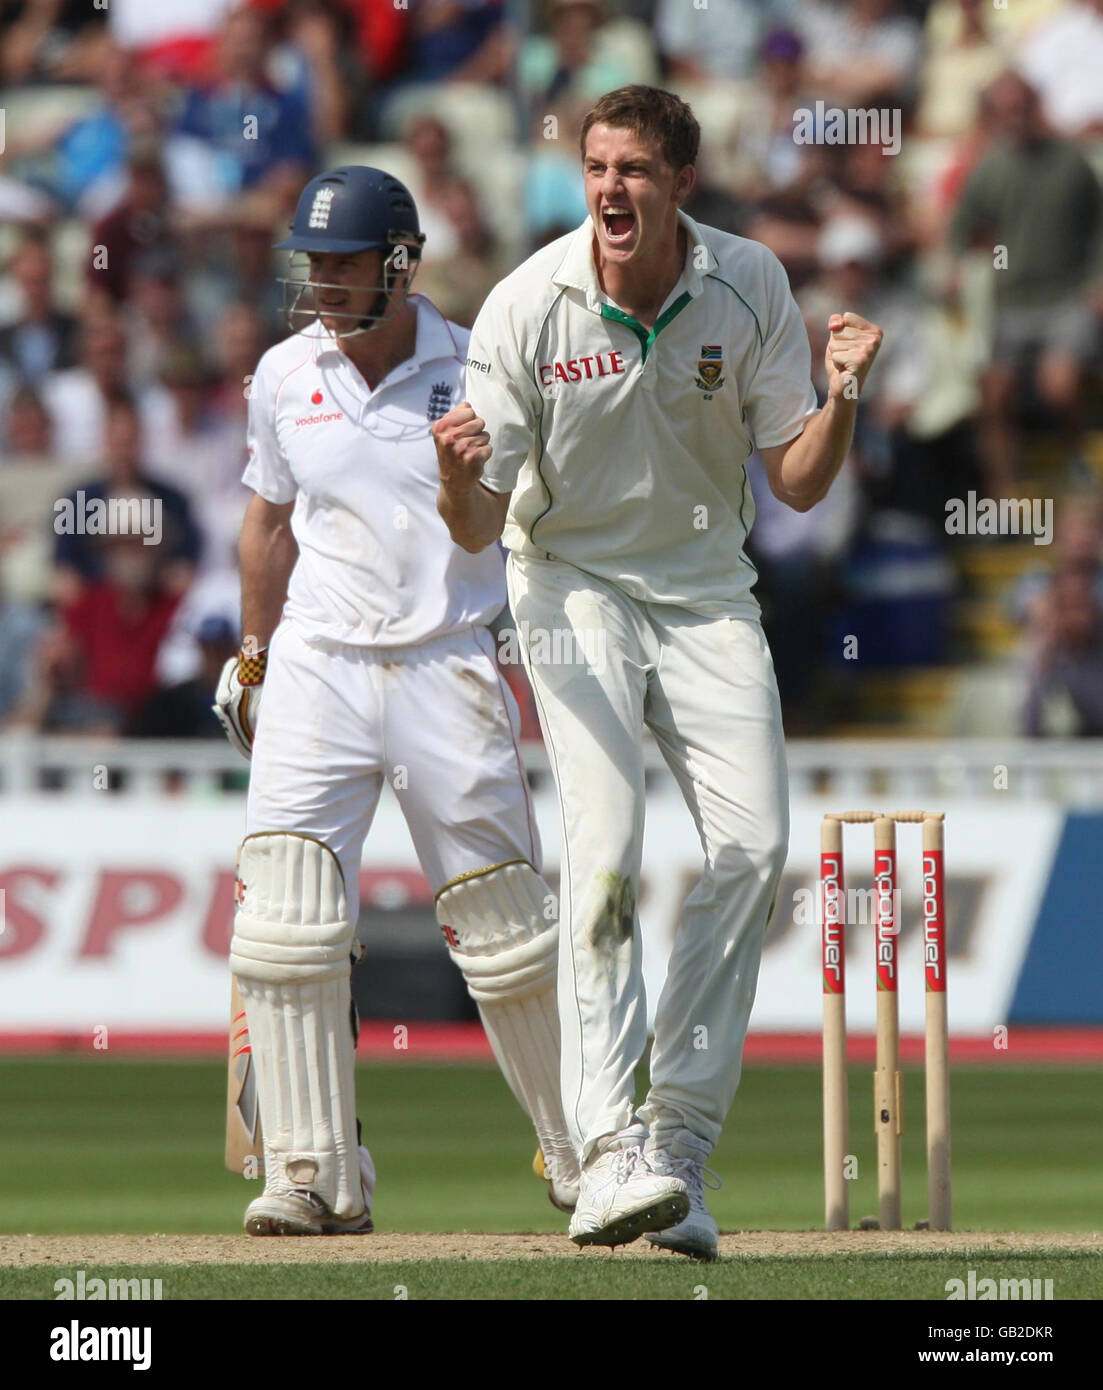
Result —
[{"label": "narrow tan dirt pitch strip under the players' feet", "polygon": [[[1015,1232],[792,1232],[752,1230],[720,1237],[721,1257],[777,1258],[838,1254],[988,1254],[1038,1251],[1103,1255],[1103,1234]],[[579,1258],[565,1236],[376,1234],[318,1238],[250,1236],[0,1236],[0,1265],[297,1265],[381,1264],[407,1259]],[[607,1258],[589,1247],[582,1258]],[[618,1259],[663,1259],[646,1241],[621,1247]]]}]

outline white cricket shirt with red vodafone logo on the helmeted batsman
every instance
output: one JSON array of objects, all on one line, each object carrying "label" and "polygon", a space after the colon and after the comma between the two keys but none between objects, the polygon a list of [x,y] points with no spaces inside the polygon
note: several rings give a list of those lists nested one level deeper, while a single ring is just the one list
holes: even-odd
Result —
[{"label": "white cricket shirt with red vodafone logo on the helmeted batsman", "polygon": [[285,616],[303,637],[407,646],[489,623],[506,602],[497,546],[468,555],[436,510],[433,420],[461,398],[467,329],[421,295],[414,356],[375,388],[314,325],[260,360],[247,486],[295,502]]}]

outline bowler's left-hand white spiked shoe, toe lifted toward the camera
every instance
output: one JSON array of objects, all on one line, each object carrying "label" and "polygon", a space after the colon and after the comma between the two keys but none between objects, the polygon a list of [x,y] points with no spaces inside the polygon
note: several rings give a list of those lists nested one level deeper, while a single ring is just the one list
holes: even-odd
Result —
[{"label": "bowler's left-hand white spiked shoe, toe lifted toward the camera", "polygon": [[688,1211],[686,1184],[656,1173],[643,1145],[629,1143],[583,1166],[567,1234],[577,1245],[627,1245],[645,1232],[674,1226]]}]

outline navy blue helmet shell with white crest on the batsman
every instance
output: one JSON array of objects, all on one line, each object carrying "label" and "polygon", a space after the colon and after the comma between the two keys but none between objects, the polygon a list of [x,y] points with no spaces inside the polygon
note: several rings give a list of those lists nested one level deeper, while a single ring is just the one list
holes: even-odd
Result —
[{"label": "navy blue helmet shell with white crest on the batsman", "polygon": [[299,195],[292,234],[276,250],[357,252],[425,242],[410,189],[367,164],[342,164],[313,178]]}]

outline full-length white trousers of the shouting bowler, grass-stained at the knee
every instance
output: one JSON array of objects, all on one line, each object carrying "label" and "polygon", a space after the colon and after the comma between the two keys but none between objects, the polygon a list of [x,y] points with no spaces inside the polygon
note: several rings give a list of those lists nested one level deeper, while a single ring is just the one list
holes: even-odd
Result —
[{"label": "full-length white trousers of the shouting bowler, grass-stained at the knee", "polygon": [[[715,1144],[735,1098],[763,935],[789,841],[781,705],[756,620],[645,603],[558,560],[510,555],[510,606],[563,820],[563,1102],[583,1162],[635,1123]],[[647,1041],[636,897],[643,730],[704,851]]]}]

